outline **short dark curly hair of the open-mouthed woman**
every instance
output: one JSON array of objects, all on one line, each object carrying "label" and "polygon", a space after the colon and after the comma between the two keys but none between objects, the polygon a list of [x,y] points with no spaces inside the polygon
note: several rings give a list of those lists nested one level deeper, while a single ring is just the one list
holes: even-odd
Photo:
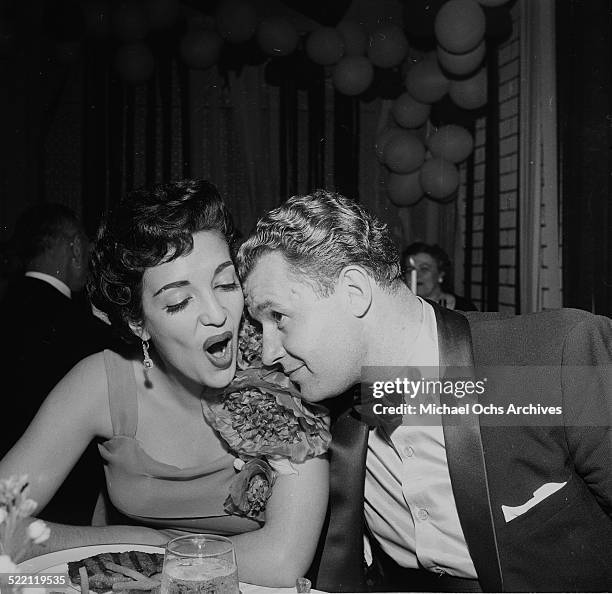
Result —
[{"label": "short dark curly hair of the open-mouthed woman", "polygon": [[130,192],[102,222],[87,292],[125,340],[136,340],[130,322],[142,321],[145,269],[188,254],[198,231],[218,231],[232,247],[231,216],[217,188],[204,180]]}]

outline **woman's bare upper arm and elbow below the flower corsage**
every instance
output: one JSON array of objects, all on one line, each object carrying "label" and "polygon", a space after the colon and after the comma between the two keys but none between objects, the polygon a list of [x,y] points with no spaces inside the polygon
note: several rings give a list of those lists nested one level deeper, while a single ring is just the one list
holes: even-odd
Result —
[{"label": "woman's bare upper arm and elbow below the flower corsage", "polygon": [[265,525],[231,539],[245,582],[291,587],[310,567],[327,509],[329,465],[319,457],[294,466],[298,474],[274,483]]}]

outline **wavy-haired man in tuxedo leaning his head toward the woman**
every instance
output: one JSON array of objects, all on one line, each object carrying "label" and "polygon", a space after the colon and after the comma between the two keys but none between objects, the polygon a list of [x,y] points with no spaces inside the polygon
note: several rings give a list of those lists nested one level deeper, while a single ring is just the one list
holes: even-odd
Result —
[{"label": "wavy-haired man in tuxedo leaning his head toward the woman", "polygon": [[[328,401],[332,482],[317,588],[365,588],[365,534],[382,590],[612,589],[609,319],[430,304],[402,282],[386,227],[324,191],[264,216],[238,266],[264,363],[282,365],[306,400],[341,394]],[[475,365],[505,367],[488,367],[486,390],[474,376],[480,395],[434,396],[441,412],[402,412],[398,426],[352,406],[363,370],[452,383]],[[452,412],[458,399],[493,412]],[[523,411],[518,422],[510,405]],[[497,411],[507,412],[496,420]]]}]

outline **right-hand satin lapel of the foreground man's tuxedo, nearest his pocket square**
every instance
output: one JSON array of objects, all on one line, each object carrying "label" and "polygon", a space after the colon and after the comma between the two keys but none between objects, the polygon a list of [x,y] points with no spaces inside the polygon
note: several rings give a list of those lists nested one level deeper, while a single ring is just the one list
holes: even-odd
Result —
[{"label": "right-hand satin lapel of the foreground man's tuxedo, nearest his pocket square", "polygon": [[[438,326],[440,376],[459,375],[465,378],[474,368],[470,327],[460,314],[432,304]],[[441,404],[456,406],[452,394],[442,394]],[[460,404],[477,402],[475,395],[466,395]],[[446,459],[461,528],[484,591],[502,590],[499,551],[493,525],[493,514],[480,437],[478,416],[443,416]]]}]

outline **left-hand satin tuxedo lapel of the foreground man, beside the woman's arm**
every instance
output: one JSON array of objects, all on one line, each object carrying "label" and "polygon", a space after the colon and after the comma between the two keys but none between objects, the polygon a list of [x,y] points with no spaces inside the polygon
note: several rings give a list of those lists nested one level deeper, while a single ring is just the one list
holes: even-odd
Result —
[{"label": "left-hand satin tuxedo lapel of the foreground man, beside the woman's arm", "polygon": [[329,515],[323,528],[325,540],[319,545],[312,568],[320,590],[365,591],[363,485],[368,431],[368,426],[350,412],[342,414],[332,427]]}]

